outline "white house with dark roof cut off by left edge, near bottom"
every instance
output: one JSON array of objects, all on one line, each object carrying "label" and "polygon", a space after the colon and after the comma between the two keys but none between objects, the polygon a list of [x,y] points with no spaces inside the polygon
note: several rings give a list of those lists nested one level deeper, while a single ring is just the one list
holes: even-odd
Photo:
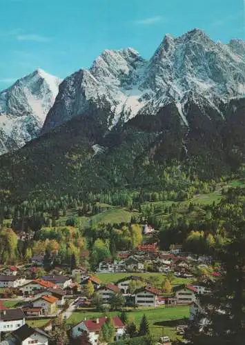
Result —
[{"label": "white house with dark roof cut off by left edge, near bottom", "polygon": [[15,331],[25,323],[25,314],[19,308],[0,311],[0,333]]}]

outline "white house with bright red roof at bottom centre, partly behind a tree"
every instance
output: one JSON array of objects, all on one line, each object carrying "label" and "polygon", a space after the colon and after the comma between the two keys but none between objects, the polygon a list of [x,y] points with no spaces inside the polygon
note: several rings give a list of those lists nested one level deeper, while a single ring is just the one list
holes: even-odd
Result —
[{"label": "white house with bright red roof at bottom centre, partly behind a tree", "polygon": [[[107,321],[107,317],[99,317],[97,319],[89,319],[79,322],[76,326],[72,327],[72,337],[77,338],[82,333],[88,333],[90,343],[92,345],[99,344],[99,336],[101,335],[102,326]],[[125,334],[125,325],[118,316],[111,318],[115,326],[115,341],[118,341]]]}]

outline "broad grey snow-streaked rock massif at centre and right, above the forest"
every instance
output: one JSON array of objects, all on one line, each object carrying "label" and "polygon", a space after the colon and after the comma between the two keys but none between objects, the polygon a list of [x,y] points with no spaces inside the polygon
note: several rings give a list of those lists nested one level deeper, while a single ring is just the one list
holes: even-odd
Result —
[{"label": "broad grey snow-streaked rock massif at centre and right, above the forest", "polygon": [[170,103],[188,127],[191,103],[223,118],[224,103],[244,95],[245,42],[215,43],[194,29],[177,38],[166,35],[149,61],[131,48],[105,50],[89,70],[61,83],[42,133],[98,110],[105,112],[101,128],[111,130],[136,115],[156,115]]}]

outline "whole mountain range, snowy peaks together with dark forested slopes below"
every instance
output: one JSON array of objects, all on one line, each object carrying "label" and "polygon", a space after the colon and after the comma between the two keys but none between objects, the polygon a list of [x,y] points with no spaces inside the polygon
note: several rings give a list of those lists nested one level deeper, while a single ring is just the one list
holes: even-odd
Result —
[{"label": "whole mountain range, snowy peaks together with dark forested slopes below", "polygon": [[0,95],[0,121],[25,117],[1,152],[36,138],[0,157],[0,187],[26,197],[139,186],[173,160],[203,179],[226,175],[245,161],[244,94],[245,42],[197,29],[167,34],[149,60],[127,48],[63,81],[37,70]]}]

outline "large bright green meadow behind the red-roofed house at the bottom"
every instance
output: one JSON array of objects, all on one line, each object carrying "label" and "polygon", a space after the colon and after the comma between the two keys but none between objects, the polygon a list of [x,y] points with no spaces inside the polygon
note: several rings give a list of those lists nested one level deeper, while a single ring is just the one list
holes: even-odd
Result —
[{"label": "large bright green meadow behind the red-roofed house at the bottom", "polygon": [[[129,311],[128,318],[132,319],[133,322],[139,327],[141,317],[146,314],[150,325],[150,333],[156,336],[161,336],[164,332],[164,335],[168,335],[171,340],[177,338],[175,331],[175,324],[177,320],[182,320],[189,315],[188,306],[175,306],[172,308],[142,308],[137,311]],[[109,312],[108,315],[114,316],[119,315],[119,312]],[[76,311],[68,319],[68,324],[75,325],[78,324],[85,317],[87,319],[93,319],[96,317],[103,316],[103,313],[98,313],[95,311]]]}]

